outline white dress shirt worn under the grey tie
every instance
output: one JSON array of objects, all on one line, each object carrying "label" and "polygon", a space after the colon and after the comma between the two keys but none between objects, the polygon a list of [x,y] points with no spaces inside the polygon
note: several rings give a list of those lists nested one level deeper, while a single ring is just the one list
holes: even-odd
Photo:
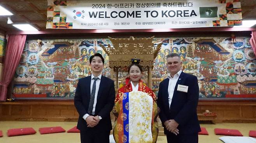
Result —
[{"label": "white dress shirt worn under the grey tie", "polygon": [[[95,90],[95,97],[94,97],[94,103],[93,103],[93,112],[91,114],[95,114],[95,107],[96,107],[96,103],[97,103],[97,96],[98,96],[98,91],[100,88],[100,80],[101,80],[101,74],[98,76],[98,80],[96,80],[96,90]],[[94,82],[94,75],[91,74],[91,87],[90,87],[90,94],[91,94],[91,90],[93,90],[93,82]],[[85,114],[82,118],[84,118],[84,120],[89,116],[89,114]]]}]

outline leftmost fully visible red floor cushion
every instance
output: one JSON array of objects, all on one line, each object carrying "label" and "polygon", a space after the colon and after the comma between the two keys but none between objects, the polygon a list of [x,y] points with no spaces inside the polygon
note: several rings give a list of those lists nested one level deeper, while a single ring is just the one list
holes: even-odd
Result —
[{"label": "leftmost fully visible red floor cushion", "polygon": [[33,128],[17,128],[17,129],[8,129],[7,136],[22,136],[28,134],[35,134],[37,131]]}]

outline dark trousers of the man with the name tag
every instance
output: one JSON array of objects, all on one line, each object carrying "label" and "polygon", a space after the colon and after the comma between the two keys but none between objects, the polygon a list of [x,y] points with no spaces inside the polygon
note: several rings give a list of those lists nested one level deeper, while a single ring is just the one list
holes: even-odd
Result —
[{"label": "dark trousers of the man with the name tag", "polygon": [[196,134],[168,134],[167,143],[198,143],[198,133]]}]

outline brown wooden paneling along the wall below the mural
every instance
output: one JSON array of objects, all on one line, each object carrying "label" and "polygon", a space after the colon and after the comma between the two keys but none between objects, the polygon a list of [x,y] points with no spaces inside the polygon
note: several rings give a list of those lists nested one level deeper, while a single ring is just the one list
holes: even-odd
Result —
[{"label": "brown wooden paneling along the wall below the mural", "polygon": [[[256,103],[199,102],[197,112],[205,110],[217,113],[216,123],[256,123]],[[78,116],[71,101],[0,102],[0,121],[77,121]]]}]

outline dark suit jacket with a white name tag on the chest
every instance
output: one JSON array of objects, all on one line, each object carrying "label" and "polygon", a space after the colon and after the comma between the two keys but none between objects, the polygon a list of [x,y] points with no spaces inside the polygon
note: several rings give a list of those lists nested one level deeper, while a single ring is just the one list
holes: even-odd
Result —
[{"label": "dark suit jacket with a white name tag on the chest", "polygon": [[[164,126],[165,121],[174,119],[179,126],[180,134],[193,134],[201,131],[198,123],[196,107],[199,98],[198,80],[194,75],[181,72],[174,89],[171,105],[169,106],[168,94],[169,78],[159,85],[157,104],[160,108],[159,117]],[[178,84],[188,86],[188,92],[177,91]],[[170,134],[164,128],[165,134]],[[172,133],[171,133],[172,134]]]}]

